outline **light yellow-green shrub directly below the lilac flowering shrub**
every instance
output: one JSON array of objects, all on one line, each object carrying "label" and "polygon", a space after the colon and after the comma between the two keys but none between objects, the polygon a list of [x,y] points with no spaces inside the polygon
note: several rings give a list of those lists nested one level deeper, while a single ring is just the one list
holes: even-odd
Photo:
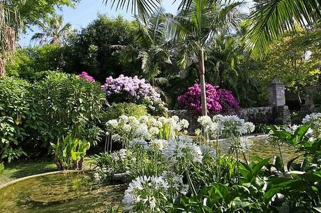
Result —
[{"label": "light yellow-green shrub directly below the lilac flowering shrub", "polygon": [[119,103],[112,104],[104,115],[104,120],[118,119],[119,116],[147,116],[147,108],[144,105],[137,105],[133,103]]}]

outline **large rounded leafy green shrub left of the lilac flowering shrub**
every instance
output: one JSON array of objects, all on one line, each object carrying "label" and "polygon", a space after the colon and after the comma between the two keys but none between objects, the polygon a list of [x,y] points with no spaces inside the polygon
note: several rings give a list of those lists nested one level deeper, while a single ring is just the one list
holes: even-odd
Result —
[{"label": "large rounded leafy green shrub left of the lilac flowering shrub", "polygon": [[49,143],[71,134],[96,144],[100,139],[100,122],[105,95],[99,84],[75,75],[54,72],[33,85],[32,107],[36,112],[29,120],[33,139]]}]

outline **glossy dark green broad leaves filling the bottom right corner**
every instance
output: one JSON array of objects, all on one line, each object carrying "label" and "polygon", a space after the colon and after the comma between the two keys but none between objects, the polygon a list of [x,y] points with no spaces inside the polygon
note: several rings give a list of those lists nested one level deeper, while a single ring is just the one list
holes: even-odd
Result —
[{"label": "glossy dark green broad leaves filling the bottom right corner", "polygon": [[321,139],[308,140],[306,125],[294,133],[275,126],[269,129],[272,136],[297,150],[287,168],[280,157],[273,164],[260,157],[253,157],[250,164],[239,161],[234,182],[214,181],[197,196],[182,197],[177,212],[318,212]]}]

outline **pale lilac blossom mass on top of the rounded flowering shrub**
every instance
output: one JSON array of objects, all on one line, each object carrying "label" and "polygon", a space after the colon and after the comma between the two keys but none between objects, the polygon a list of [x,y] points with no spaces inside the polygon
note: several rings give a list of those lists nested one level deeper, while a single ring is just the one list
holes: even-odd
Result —
[{"label": "pale lilac blossom mass on top of the rounded flowering shrub", "polygon": [[145,82],[145,79],[135,77],[125,77],[121,74],[117,79],[109,77],[103,86],[107,97],[111,95],[130,95],[136,100],[149,100],[151,102],[160,101],[160,94],[156,93],[151,84]]}]

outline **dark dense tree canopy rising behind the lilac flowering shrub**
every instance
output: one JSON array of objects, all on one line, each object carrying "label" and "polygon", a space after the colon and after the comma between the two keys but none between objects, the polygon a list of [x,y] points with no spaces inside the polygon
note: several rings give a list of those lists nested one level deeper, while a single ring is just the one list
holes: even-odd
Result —
[{"label": "dark dense tree canopy rising behind the lilac flowering shrub", "polygon": [[123,17],[110,19],[99,15],[98,19],[82,29],[72,41],[75,71],[86,71],[98,81],[119,74],[133,76],[140,72],[140,62],[120,63],[119,52],[114,45],[133,45],[137,34],[137,23],[126,21]]}]

